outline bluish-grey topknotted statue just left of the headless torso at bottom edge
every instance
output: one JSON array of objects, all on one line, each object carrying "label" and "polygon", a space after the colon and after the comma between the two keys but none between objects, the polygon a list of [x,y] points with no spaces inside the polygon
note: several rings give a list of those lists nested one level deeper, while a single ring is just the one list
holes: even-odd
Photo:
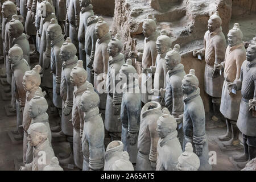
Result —
[{"label": "bluish-grey topknotted statue just left of the headless torso at bottom edge", "polygon": [[80,107],[84,115],[84,131],[82,132],[83,171],[102,170],[104,167],[104,123],[98,104],[100,97],[88,84],[81,96]]}]

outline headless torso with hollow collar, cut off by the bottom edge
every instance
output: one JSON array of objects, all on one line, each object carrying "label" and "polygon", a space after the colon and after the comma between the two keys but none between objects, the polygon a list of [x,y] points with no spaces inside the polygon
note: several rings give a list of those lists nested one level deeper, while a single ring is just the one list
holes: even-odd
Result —
[{"label": "headless torso with hollow collar, cut off by the bottom edge", "polygon": [[104,171],[134,171],[129,154],[123,151],[123,143],[114,140],[108,144],[105,152]]}]

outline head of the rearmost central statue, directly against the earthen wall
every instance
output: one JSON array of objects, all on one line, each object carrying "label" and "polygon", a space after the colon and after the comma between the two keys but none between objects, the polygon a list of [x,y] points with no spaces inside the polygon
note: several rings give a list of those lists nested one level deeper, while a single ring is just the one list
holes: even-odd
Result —
[{"label": "head of the rearmost central statue, directly against the earthen wall", "polygon": [[150,37],[156,31],[156,22],[152,14],[148,14],[147,18],[143,20],[142,32],[146,38]]}]

